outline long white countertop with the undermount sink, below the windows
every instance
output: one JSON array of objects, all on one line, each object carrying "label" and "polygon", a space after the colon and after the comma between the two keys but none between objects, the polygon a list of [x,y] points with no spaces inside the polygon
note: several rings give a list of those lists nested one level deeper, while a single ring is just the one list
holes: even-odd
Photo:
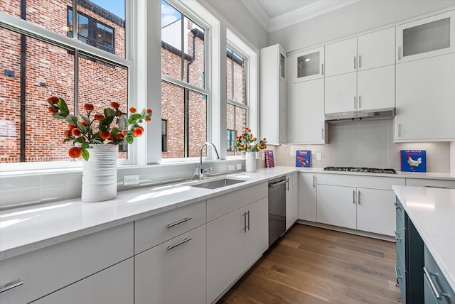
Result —
[{"label": "long white countertop with the undermount sink, below the windows", "polygon": [[105,202],[82,202],[74,199],[4,210],[0,212],[0,260],[293,172],[296,172],[294,167],[263,168],[255,173],[240,172],[205,178],[206,181],[228,176],[245,180],[245,183],[215,190],[191,187],[191,184],[198,183],[196,180],[126,190],[118,192],[114,200]]}]

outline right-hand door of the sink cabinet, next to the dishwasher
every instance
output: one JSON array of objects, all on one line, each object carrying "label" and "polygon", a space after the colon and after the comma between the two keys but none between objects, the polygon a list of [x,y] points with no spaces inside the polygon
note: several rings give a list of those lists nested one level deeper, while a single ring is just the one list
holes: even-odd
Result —
[{"label": "right-hand door of the sink cabinet, next to the dishwasher", "polygon": [[245,267],[254,264],[269,248],[269,200],[263,198],[245,207]]}]

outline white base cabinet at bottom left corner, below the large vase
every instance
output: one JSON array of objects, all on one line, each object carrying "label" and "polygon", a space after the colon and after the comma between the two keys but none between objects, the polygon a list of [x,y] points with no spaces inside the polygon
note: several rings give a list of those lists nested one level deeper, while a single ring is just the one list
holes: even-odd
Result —
[{"label": "white base cabinet at bottom left corner, below the large vase", "polygon": [[133,233],[123,224],[0,261],[0,303],[134,303]]}]

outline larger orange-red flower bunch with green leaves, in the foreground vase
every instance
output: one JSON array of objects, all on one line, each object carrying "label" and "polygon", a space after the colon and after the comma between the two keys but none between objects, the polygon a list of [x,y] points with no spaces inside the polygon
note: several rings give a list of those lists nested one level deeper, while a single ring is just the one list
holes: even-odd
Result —
[{"label": "larger orange-red flower bunch with green leaves, in the foreground vase", "polygon": [[[68,122],[68,129],[64,131],[65,139],[73,142],[73,147],[68,150],[68,155],[72,158],[82,158],[88,160],[90,154],[87,149],[93,148],[92,144],[113,144],[132,143],[135,137],[141,136],[144,133],[144,127],[140,126],[143,121],[151,121],[151,109],[143,109],[141,114],[137,113],[134,107],[129,108],[131,115],[128,119],[124,118],[124,130],[120,130],[119,119],[122,116],[122,111],[119,110],[120,104],[111,102],[110,107],[103,110],[103,114],[97,113],[92,115],[93,104],[84,104],[84,109],[87,115],[80,115],[81,120],[76,116],[71,115],[68,106],[61,97],[48,98],[49,112],[56,119],[65,119]],[[96,124],[97,121],[97,130]],[[114,125],[111,126],[112,122]]]}]

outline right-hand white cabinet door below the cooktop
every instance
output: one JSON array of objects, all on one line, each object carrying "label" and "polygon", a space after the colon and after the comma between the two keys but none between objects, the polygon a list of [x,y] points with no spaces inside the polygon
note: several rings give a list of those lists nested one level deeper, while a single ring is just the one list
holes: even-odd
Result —
[{"label": "right-hand white cabinet door below the cooktop", "polygon": [[389,236],[395,230],[395,194],[389,190],[357,189],[357,229]]}]

